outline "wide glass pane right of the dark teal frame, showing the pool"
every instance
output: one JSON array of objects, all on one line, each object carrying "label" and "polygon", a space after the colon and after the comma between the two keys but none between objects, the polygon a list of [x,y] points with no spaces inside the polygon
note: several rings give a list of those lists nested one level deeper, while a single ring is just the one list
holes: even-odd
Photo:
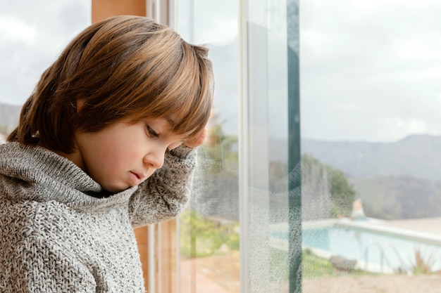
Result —
[{"label": "wide glass pane right of the dark teal frame, showing the pool", "polygon": [[437,292],[440,1],[302,1],[304,292]]}]

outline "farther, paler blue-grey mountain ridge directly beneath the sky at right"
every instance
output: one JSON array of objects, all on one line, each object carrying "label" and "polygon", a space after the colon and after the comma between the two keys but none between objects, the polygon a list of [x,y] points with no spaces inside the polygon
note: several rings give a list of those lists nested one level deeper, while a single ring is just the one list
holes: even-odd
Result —
[{"label": "farther, paler blue-grey mountain ridge directly beneath the sky at right", "polygon": [[441,136],[412,135],[393,143],[302,139],[302,153],[348,176],[408,176],[441,181]]}]

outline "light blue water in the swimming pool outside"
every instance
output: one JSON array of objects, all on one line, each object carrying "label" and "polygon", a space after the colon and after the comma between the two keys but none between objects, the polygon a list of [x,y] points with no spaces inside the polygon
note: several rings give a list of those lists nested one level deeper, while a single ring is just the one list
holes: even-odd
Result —
[{"label": "light blue water in the swimming pool outside", "polygon": [[[277,233],[274,237],[280,239]],[[320,249],[329,255],[356,259],[359,263],[366,261],[389,271],[397,268],[411,271],[415,264],[415,253],[419,251],[423,259],[430,261],[432,271],[441,270],[440,245],[363,228],[339,225],[304,228],[302,245],[305,248]]]}]

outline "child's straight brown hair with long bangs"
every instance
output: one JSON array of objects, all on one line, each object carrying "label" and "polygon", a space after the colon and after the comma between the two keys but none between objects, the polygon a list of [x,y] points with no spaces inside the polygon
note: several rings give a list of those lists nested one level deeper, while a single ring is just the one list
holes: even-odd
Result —
[{"label": "child's straight brown hair with long bangs", "polygon": [[[204,129],[213,73],[208,49],[149,18],[120,15],[94,23],[42,74],[8,141],[75,150],[74,131],[94,132],[130,117],[170,118],[185,137]],[[77,100],[81,107],[77,110]]]}]

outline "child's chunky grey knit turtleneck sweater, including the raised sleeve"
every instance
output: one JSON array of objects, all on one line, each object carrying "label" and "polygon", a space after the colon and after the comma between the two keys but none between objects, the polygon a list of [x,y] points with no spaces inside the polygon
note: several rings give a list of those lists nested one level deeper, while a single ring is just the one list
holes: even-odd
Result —
[{"label": "child's chunky grey knit turtleneck sweater, including the raised sleeve", "polygon": [[195,152],[166,153],[139,186],[104,190],[38,146],[0,145],[0,292],[144,292],[132,228],[187,204]]}]

